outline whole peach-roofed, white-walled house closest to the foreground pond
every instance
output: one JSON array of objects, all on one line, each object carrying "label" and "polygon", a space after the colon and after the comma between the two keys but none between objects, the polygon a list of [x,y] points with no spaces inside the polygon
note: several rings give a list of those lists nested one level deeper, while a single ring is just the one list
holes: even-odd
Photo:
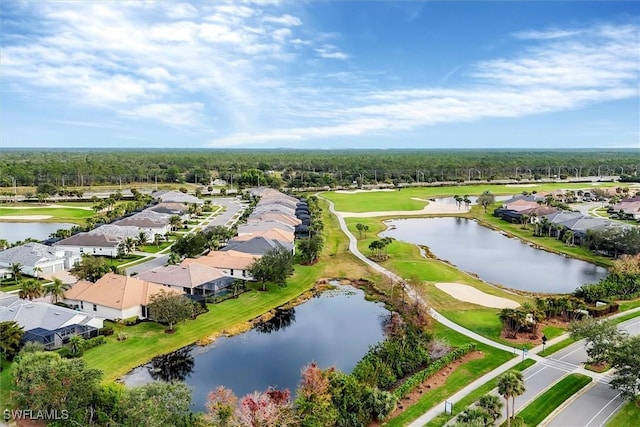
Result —
[{"label": "whole peach-roofed, white-walled house closest to the foreground pond", "polygon": [[[64,302],[80,311],[110,320],[134,316],[146,319],[151,297],[163,290],[167,291],[167,288],[157,283],[107,273],[96,283],[81,280],[73,285],[65,292]],[[178,292],[173,289],[169,291]]]}]

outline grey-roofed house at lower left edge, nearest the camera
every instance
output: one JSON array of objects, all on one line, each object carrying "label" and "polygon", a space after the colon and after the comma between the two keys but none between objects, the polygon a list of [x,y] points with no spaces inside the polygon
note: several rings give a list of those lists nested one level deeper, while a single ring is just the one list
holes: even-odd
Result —
[{"label": "grey-roofed house at lower left edge, nearest the camera", "polygon": [[0,322],[14,321],[25,331],[23,342],[37,341],[45,349],[62,346],[69,338],[98,335],[103,327],[100,317],[80,313],[65,307],[37,301],[18,299],[7,306],[0,305]]}]

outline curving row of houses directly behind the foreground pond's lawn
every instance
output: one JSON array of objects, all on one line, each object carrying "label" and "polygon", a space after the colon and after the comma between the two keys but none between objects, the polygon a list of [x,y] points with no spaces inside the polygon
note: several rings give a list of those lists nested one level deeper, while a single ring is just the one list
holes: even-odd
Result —
[{"label": "curving row of houses directly behind the foreground pond's lawn", "polygon": [[[260,201],[238,235],[217,251],[182,260],[178,265],[153,268],[135,277],[108,274],[96,283],[78,282],[65,294],[65,302],[78,310],[107,319],[147,317],[151,296],[161,289],[201,299],[220,295],[234,281],[252,280],[249,270],[266,252],[284,248],[295,252],[296,217],[308,215],[306,203],[274,190],[256,190]],[[117,292],[114,293],[114,290]]]}]

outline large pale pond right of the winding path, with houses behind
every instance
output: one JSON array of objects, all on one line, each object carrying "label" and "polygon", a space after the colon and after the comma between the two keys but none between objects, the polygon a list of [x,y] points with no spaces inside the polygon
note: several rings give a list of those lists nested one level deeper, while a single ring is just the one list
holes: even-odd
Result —
[{"label": "large pale pond right of the winding path, with houses behind", "polygon": [[483,280],[532,292],[569,293],[597,282],[607,270],[536,249],[464,218],[412,218],[385,222],[381,234],[428,246],[440,259]]}]

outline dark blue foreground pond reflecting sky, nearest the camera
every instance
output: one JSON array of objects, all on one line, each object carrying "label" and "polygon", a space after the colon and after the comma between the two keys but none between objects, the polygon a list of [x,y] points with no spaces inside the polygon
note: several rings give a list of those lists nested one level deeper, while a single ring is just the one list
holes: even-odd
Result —
[{"label": "dark blue foreground pond reflecting sky, nearest the camera", "polygon": [[335,366],[351,372],[369,346],[383,339],[387,314],[382,304],[365,300],[363,291],[340,286],[281,310],[249,332],[157,357],[123,380],[128,386],[153,379],[184,380],[193,389],[196,411],[205,411],[207,394],[219,385],[238,397],[269,386],[288,388],[293,396],[300,370],[311,361],[322,369]]}]

